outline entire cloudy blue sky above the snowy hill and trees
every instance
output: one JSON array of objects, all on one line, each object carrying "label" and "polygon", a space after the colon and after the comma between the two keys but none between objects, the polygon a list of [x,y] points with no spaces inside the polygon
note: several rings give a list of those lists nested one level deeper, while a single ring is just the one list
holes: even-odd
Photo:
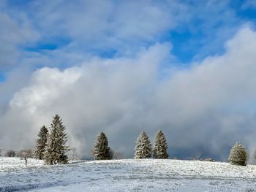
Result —
[{"label": "entire cloudy blue sky above the snowy hill and trees", "polygon": [[256,149],[255,1],[0,1],[0,148],[33,148],[59,114],[90,157],[132,158],[162,129],[171,158]]}]

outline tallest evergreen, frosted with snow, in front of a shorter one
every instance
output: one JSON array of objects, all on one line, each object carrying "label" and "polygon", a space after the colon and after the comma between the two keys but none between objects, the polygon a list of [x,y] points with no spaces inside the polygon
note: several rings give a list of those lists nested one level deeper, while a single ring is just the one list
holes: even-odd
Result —
[{"label": "tallest evergreen, frosted with snow, in front of a shorter one", "polygon": [[66,145],[67,134],[65,126],[59,115],[55,115],[53,123],[50,125],[50,134],[48,134],[47,145],[45,148],[46,164],[67,164],[67,151],[69,147]]}]

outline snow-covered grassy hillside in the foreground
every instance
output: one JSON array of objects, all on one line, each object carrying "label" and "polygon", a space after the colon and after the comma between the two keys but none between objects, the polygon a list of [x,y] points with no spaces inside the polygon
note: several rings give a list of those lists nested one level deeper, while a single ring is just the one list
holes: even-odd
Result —
[{"label": "snow-covered grassy hillside in the foreground", "polygon": [[46,166],[0,158],[0,191],[256,191],[256,166],[178,160],[80,161]]}]

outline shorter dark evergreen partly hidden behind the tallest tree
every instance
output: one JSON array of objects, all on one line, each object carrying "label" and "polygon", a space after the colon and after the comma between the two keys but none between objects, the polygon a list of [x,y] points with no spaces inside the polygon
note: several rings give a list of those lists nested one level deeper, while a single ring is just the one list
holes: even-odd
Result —
[{"label": "shorter dark evergreen partly hidden behind the tallest tree", "polygon": [[42,128],[40,128],[38,139],[36,141],[36,150],[34,152],[36,155],[36,158],[42,159],[44,157],[47,137],[48,137],[48,128],[46,128],[45,126],[42,126]]}]

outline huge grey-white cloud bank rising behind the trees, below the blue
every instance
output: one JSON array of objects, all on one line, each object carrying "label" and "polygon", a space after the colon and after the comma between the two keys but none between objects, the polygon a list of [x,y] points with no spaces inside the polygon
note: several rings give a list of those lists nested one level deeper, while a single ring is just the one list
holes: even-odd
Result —
[{"label": "huge grey-white cloud bank rising behind the trees, below the blue", "polygon": [[0,146],[33,147],[40,126],[59,113],[70,146],[86,157],[99,131],[125,157],[132,157],[141,130],[153,142],[159,128],[170,156],[226,160],[236,141],[254,147],[256,32],[244,26],[224,54],[185,69],[173,63],[171,50],[157,43],[131,57],[38,69],[2,112]]}]

